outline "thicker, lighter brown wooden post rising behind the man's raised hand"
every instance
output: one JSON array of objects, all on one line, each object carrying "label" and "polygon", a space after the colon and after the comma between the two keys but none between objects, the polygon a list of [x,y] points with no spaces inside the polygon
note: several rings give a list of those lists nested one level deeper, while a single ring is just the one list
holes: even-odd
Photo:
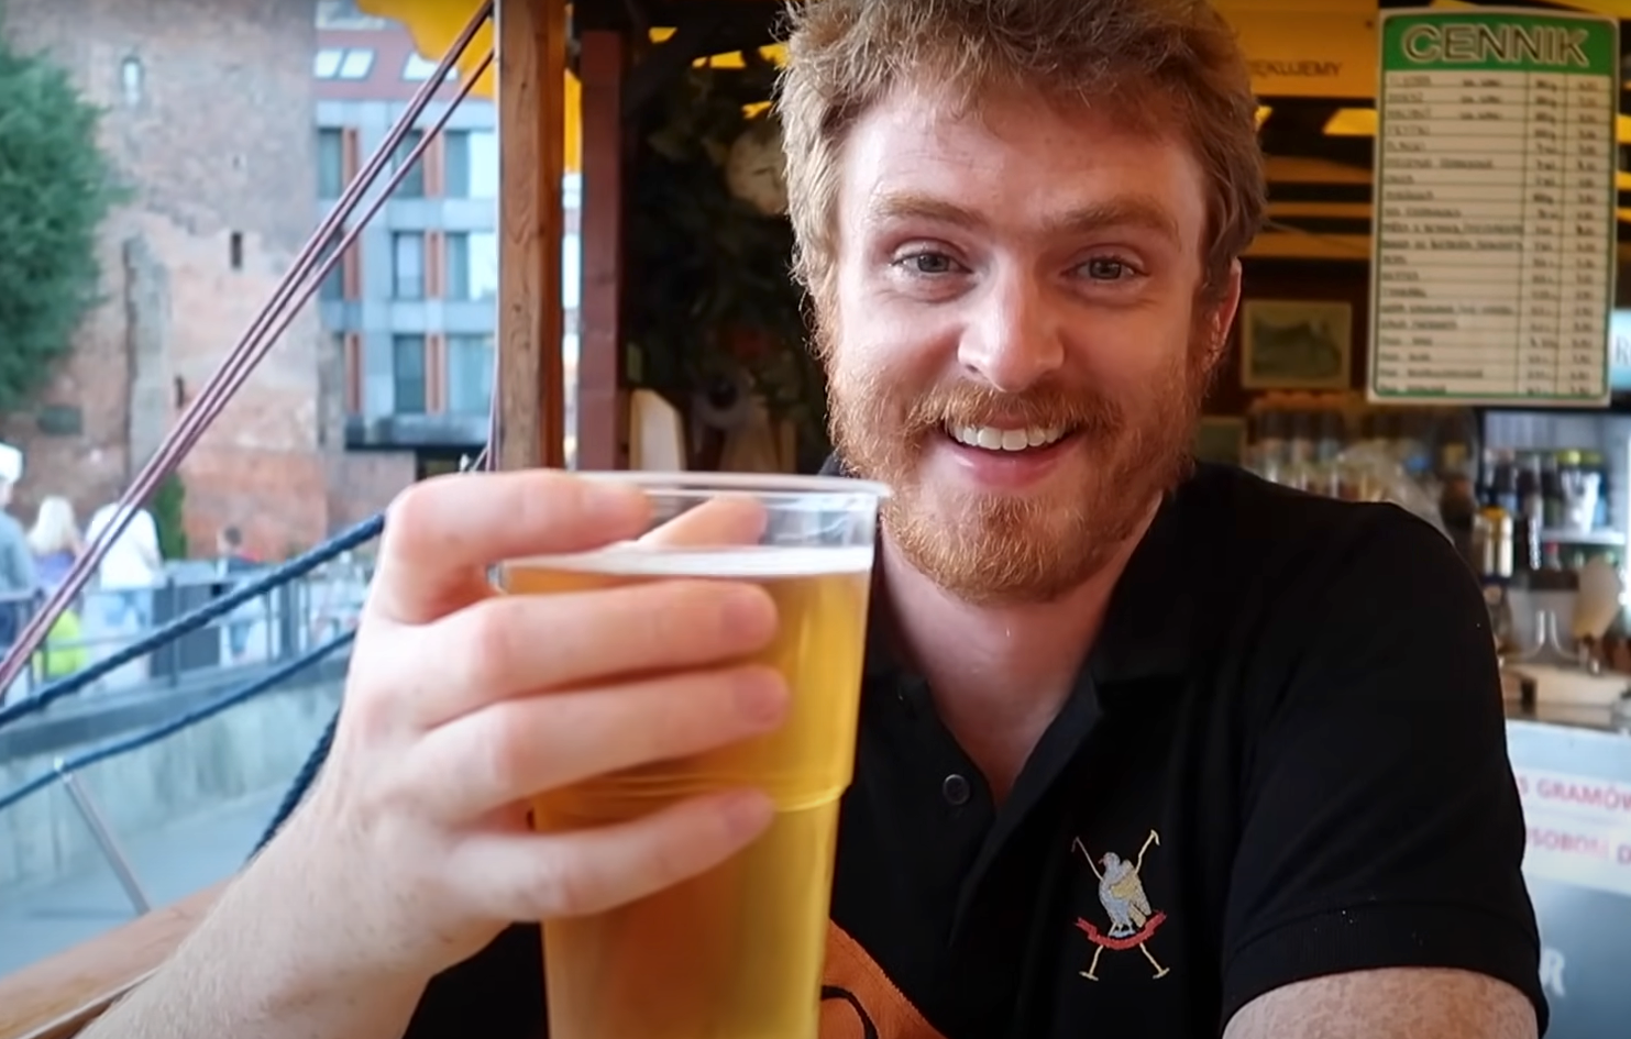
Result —
[{"label": "thicker, lighter brown wooden post rising behind the man's raised hand", "polygon": [[566,0],[497,0],[499,375],[496,458],[564,465],[561,178]]}]

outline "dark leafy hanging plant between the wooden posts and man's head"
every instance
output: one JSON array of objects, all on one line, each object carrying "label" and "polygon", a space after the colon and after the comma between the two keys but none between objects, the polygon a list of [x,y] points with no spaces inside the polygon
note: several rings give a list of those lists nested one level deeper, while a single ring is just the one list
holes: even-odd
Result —
[{"label": "dark leafy hanging plant between the wooden posts and man's head", "polygon": [[[825,450],[825,383],[809,351],[781,134],[765,104],[775,67],[690,69],[641,117],[631,163],[625,328],[630,382],[687,414],[757,395]],[[780,192],[780,194],[778,194]]]}]

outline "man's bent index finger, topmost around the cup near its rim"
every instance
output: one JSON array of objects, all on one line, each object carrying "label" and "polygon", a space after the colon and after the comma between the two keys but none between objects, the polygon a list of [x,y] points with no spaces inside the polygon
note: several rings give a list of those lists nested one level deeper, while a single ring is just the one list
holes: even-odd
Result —
[{"label": "man's bent index finger, topmost around the cup near its rim", "polygon": [[649,515],[638,488],[550,470],[426,480],[385,517],[369,608],[426,623],[466,605],[488,566],[636,538]]}]

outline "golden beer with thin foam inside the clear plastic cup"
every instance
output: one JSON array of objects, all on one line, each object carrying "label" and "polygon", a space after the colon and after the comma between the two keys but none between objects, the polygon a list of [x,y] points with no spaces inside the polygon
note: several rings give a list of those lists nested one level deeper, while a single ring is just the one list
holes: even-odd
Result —
[{"label": "golden beer with thin foam inside the clear plastic cup", "polygon": [[760,584],[781,628],[754,662],[776,667],[793,692],[773,734],[535,799],[543,832],[623,822],[727,786],[757,786],[778,807],[770,830],[723,866],[607,913],[545,925],[551,1039],[816,1039],[871,559],[871,545],[630,546],[506,568],[512,594],[664,577]]}]

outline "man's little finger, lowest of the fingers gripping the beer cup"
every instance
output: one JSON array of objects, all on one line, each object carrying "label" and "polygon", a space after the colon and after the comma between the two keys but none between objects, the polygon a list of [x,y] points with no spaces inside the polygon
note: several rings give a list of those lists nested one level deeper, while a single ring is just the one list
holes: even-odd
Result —
[{"label": "man's little finger, lowest of the fingers gripping the beer cup", "polygon": [[763,833],[771,816],[762,793],[708,794],[633,822],[476,835],[458,845],[449,869],[493,920],[582,917],[713,869]]}]

